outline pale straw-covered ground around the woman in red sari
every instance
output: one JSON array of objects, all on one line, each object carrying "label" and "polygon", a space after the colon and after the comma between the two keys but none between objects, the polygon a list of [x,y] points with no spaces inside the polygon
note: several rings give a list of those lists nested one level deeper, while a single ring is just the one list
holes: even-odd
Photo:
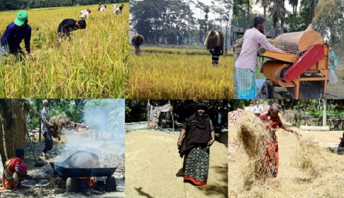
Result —
[{"label": "pale straw-covered ground around the woman in red sari", "polygon": [[[296,128],[292,128],[296,129]],[[231,127],[229,137],[236,137],[236,127]],[[339,144],[343,132],[304,132],[296,129],[305,137],[312,137],[314,144],[323,144],[319,153],[321,161],[316,163],[320,170],[318,176],[312,176],[296,168],[295,156],[297,139],[293,134],[277,131],[279,141],[279,171],[277,178],[254,183],[250,189],[243,187],[243,172],[248,164],[248,156],[238,146],[228,146],[231,160],[228,164],[228,197],[343,197],[344,156],[331,153],[326,144]],[[317,160],[317,159],[316,159]]]}]

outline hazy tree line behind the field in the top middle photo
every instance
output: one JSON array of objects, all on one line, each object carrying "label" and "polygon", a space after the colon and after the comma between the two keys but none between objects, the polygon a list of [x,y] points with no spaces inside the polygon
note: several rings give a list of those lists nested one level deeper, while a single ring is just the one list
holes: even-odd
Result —
[{"label": "hazy tree line behind the field in the top middle photo", "polygon": [[[228,37],[231,0],[131,1],[131,32],[145,37],[148,44],[200,45],[209,30],[222,30]],[[209,19],[209,16],[214,16]]]}]

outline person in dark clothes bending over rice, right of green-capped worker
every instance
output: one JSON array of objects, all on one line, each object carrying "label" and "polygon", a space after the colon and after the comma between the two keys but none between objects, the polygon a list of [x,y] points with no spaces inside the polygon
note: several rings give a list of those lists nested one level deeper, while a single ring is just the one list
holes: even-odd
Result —
[{"label": "person in dark clothes bending over rice, right of green-capped worker", "polygon": [[80,20],[75,21],[72,18],[67,18],[63,20],[59,27],[57,28],[57,32],[59,33],[59,37],[69,37],[72,38],[72,35],[70,35],[70,32],[74,30],[82,30],[86,28],[86,21]]}]

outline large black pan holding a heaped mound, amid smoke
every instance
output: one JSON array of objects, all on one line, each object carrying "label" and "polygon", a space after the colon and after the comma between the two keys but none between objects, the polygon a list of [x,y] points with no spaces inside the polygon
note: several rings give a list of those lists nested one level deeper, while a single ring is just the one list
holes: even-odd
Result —
[{"label": "large black pan holding a heaped mound, amid smoke", "polygon": [[[60,164],[60,163],[58,163]],[[116,168],[65,168],[50,162],[57,175],[60,177],[106,177],[115,173]]]}]

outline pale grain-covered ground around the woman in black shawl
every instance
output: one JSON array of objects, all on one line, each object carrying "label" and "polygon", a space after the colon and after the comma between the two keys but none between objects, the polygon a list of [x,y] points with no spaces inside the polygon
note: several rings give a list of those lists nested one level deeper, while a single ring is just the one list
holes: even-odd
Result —
[{"label": "pale grain-covered ground around the woman in black shawl", "polygon": [[227,197],[228,152],[215,141],[210,148],[206,186],[183,182],[177,149],[178,134],[131,132],[126,134],[126,197]]}]

